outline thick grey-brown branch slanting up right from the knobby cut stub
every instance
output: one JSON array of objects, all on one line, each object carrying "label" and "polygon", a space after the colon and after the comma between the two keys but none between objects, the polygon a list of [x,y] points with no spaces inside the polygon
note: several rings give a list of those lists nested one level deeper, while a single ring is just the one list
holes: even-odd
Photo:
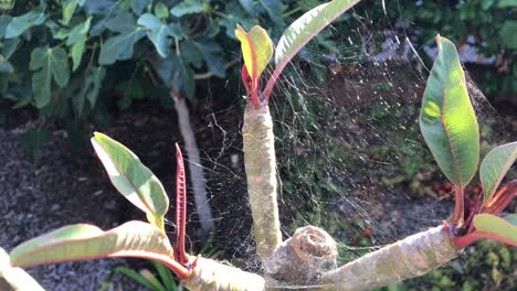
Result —
[{"label": "thick grey-brown branch slanting up right from the knobby cut stub", "polygon": [[422,276],[454,259],[460,248],[443,226],[368,254],[323,276],[323,290],[370,290]]}]

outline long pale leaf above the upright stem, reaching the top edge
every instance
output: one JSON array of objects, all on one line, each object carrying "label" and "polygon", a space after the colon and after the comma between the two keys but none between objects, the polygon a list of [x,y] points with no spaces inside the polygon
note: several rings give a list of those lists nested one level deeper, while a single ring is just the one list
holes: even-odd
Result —
[{"label": "long pale leaf above the upright stem, reaching the top edge", "polygon": [[302,47],[357,2],[359,0],[334,0],[313,8],[293,22],[276,45],[276,71],[282,71]]}]

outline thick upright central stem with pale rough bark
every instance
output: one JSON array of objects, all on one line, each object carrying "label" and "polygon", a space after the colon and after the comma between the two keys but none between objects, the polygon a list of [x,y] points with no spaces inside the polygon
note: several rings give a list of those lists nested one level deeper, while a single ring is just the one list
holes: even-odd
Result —
[{"label": "thick upright central stem with pale rough bark", "polygon": [[255,107],[247,104],[242,136],[256,252],[264,261],[282,244],[276,201],[275,137],[267,105]]}]

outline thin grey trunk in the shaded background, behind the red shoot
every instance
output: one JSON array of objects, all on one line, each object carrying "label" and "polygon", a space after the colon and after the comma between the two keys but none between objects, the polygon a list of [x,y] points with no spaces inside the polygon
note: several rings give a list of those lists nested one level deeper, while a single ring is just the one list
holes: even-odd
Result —
[{"label": "thin grey trunk in the shaded background, behind the red shoot", "polygon": [[178,122],[181,136],[183,137],[184,148],[187,151],[190,181],[192,183],[192,191],[194,195],[196,211],[199,215],[199,222],[203,230],[203,236],[209,235],[213,226],[212,209],[207,198],[207,180],[204,179],[203,168],[201,164],[201,157],[199,153],[196,137],[190,125],[189,109],[182,96],[170,94],[175,100],[176,111],[178,112]]}]

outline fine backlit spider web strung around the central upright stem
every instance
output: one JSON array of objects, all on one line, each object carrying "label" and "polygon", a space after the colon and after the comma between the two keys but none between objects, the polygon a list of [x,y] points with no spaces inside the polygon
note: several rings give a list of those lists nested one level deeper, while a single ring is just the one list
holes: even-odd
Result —
[{"label": "fine backlit spider web strung around the central upright stem", "polygon": [[[284,239],[297,227],[319,226],[338,241],[340,263],[440,225],[453,209],[451,193],[433,188],[446,181],[418,125],[430,69],[416,54],[423,44],[388,19],[355,14],[347,23],[325,30],[331,42],[316,39],[303,50],[270,103]],[[467,83],[483,157],[515,139],[508,133],[515,129],[468,74]],[[207,108],[218,103],[215,94],[209,91]],[[244,101],[232,94],[238,98],[230,107],[208,109],[196,128],[218,229],[213,244],[193,233],[190,240],[198,250],[204,246],[218,259],[257,271],[240,132]],[[189,222],[196,222],[190,209]]]}]

